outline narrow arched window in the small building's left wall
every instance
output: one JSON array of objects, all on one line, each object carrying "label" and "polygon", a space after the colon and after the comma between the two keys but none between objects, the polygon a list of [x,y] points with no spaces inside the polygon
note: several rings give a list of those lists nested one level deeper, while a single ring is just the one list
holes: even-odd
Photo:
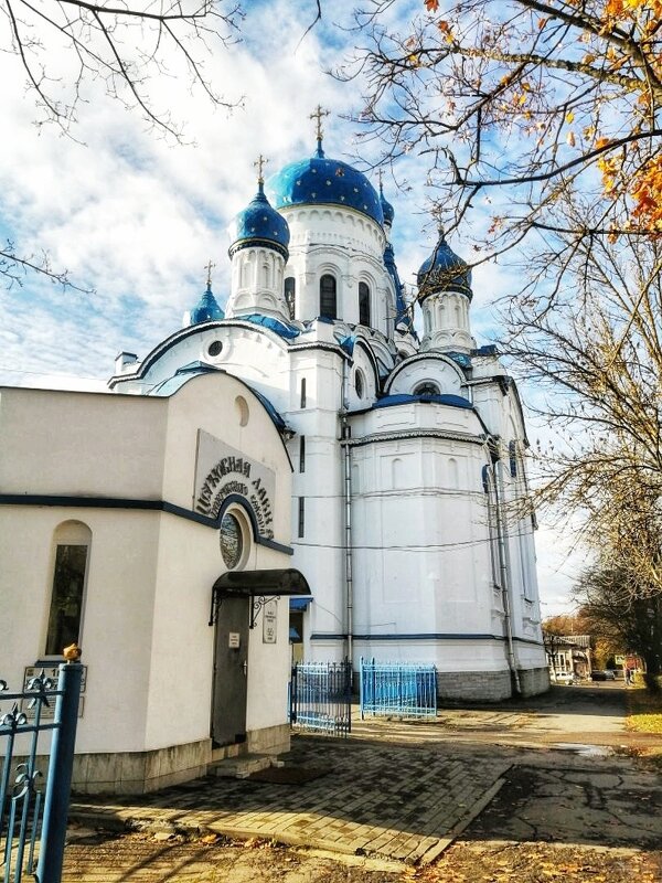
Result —
[{"label": "narrow arched window in the small building's left wall", "polygon": [[53,535],[55,560],[46,656],[62,656],[70,643],[81,642],[90,543],[92,531],[81,521],[65,521]]}]

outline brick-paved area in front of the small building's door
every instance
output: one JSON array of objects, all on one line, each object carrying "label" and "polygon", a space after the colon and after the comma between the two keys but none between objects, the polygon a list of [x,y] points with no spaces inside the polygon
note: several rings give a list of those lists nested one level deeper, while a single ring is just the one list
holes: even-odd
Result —
[{"label": "brick-paved area in front of the small building's door", "polygon": [[74,797],[70,815],[87,825],[209,830],[426,863],[481,811],[510,766],[495,757],[301,736],[287,759],[330,772],[299,785],[210,776],[110,804]]}]

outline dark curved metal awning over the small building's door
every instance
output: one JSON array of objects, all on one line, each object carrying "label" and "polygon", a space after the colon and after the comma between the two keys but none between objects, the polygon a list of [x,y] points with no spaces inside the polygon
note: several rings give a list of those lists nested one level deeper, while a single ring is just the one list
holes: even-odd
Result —
[{"label": "dark curved metal awning over the small building's door", "polygon": [[227,571],[212,587],[210,626],[216,623],[223,598],[249,598],[250,628],[256,614],[268,598],[310,597],[310,586],[302,573],[293,567],[278,571]]}]

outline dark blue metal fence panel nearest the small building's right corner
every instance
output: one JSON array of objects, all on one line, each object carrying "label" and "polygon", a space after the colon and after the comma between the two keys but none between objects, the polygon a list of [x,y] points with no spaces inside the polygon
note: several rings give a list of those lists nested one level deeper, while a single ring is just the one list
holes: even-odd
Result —
[{"label": "dark blue metal fence panel nearest the small building's right corner", "polygon": [[298,662],[290,684],[292,726],[330,736],[352,728],[352,666],[344,662]]}]

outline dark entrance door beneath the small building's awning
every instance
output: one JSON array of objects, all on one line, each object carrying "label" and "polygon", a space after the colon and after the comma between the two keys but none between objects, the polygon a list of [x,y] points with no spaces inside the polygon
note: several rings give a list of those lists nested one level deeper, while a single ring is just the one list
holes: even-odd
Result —
[{"label": "dark entrance door beneath the small building's awning", "polygon": [[224,598],[216,620],[212,741],[233,745],[246,741],[248,682],[248,605],[250,598]]}]

